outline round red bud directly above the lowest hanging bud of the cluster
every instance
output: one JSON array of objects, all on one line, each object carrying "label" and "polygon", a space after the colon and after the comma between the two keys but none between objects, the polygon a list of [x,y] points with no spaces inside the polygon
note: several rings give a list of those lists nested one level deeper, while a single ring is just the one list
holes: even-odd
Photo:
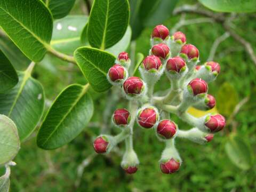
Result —
[{"label": "round red bud directly above the lowest hanging bud of the cluster", "polygon": [[159,122],[157,125],[157,133],[163,136],[165,139],[170,139],[176,133],[176,125],[169,119]]}]

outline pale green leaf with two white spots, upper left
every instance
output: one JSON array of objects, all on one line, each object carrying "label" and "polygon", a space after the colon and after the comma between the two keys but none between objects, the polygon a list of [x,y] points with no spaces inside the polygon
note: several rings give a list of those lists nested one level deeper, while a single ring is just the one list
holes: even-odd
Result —
[{"label": "pale green leaf with two white spots, upper left", "polygon": [[73,55],[83,44],[80,41],[82,30],[88,18],[82,15],[71,15],[54,21],[52,47],[65,54]]}]

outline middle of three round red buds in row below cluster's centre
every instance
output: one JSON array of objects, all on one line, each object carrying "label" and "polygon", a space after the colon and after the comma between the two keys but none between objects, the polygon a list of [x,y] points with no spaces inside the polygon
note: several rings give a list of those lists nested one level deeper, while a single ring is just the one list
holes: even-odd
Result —
[{"label": "middle of three round red buds in row below cluster's centre", "polygon": [[145,108],[138,116],[138,123],[148,129],[155,125],[157,118],[158,115],[154,108]]}]

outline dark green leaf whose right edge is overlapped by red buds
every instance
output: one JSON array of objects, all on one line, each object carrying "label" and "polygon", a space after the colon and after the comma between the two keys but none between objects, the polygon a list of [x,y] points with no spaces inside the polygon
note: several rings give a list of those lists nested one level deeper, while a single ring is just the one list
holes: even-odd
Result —
[{"label": "dark green leaf whose right edge is overlapped by red buds", "polygon": [[107,73],[115,63],[113,55],[91,47],[80,47],[75,51],[74,57],[94,91],[103,92],[111,87]]}]

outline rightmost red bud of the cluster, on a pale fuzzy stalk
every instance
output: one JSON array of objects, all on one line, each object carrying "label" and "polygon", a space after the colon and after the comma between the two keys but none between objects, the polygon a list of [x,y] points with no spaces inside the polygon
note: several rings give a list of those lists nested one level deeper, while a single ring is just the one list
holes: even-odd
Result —
[{"label": "rightmost red bud of the cluster, on a pale fuzzy stalk", "polygon": [[222,115],[211,115],[206,118],[205,126],[207,126],[211,132],[215,133],[221,131],[226,125],[225,117]]}]

